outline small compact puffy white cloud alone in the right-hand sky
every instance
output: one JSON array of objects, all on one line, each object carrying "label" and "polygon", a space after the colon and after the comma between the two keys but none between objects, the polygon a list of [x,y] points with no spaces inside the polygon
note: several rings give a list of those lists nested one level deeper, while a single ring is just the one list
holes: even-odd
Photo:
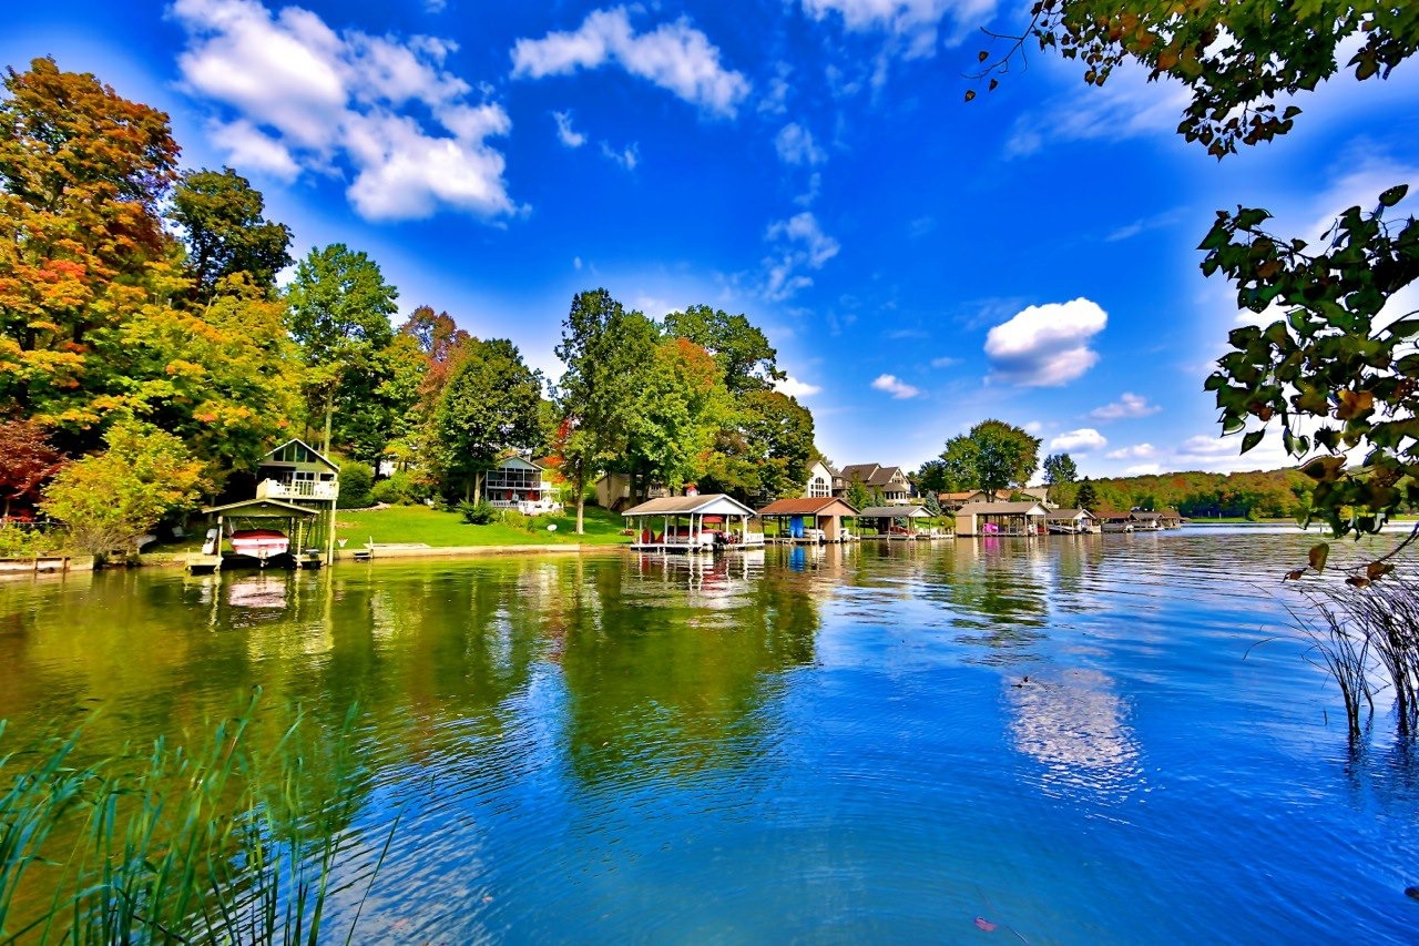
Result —
[{"label": "small compact puffy white cloud alone in the right-hand sky", "polygon": [[989,379],[1026,388],[1069,384],[1098,361],[1088,339],[1107,324],[1104,310],[1087,298],[1030,305],[986,335]]}]

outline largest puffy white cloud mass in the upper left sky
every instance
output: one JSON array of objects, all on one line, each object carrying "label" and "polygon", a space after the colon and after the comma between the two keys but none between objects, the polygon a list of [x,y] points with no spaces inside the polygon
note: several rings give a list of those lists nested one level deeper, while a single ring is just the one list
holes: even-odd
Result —
[{"label": "largest puffy white cloud mass in the upper left sky", "polygon": [[233,163],[284,179],[348,168],[346,196],[370,220],[517,210],[487,143],[512,124],[444,70],[451,43],[336,33],[258,0],[176,0],[170,14],[187,33],[183,85],[223,109],[211,139]]}]

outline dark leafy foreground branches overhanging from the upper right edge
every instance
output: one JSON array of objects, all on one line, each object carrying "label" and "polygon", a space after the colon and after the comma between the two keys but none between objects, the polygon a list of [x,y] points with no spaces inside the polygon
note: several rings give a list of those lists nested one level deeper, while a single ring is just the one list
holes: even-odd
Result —
[{"label": "dark leafy foreground branches overhanging from the upper right edge", "polygon": [[[1130,60],[1151,78],[1179,81],[1191,102],[1178,131],[1220,159],[1239,143],[1290,132],[1301,115],[1291,102],[1342,68],[1341,48],[1354,50],[1344,68],[1357,80],[1388,78],[1419,50],[1419,7],[1375,0],[1283,7],[1040,0],[1025,36],[1003,57],[989,61],[982,53],[989,62],[981,78],[990,88],[1029,38],[1081,58],[1084,81],[1094,85]],[[1290,102],[1277,112],[1280,97]],[[1223,432],[1242,433],[1246,452],[1274,420],[1284,449],[1315,482],[1305,516],[1320,516],[1337,534],[1376,531],[1419,501],[1419,358],[1412,354],[1419,320],[1386,311],[1419,278],[1419,224],[1413,217],[1385,220],[1405,192],[1403,183],[1384,190],[1371,213],[1349,207],[1315,247],[1263,230],[1270,214],[1257,207],[1219,212],[1200,246],[1203,273],[1232,280],[1240,308],[1276,312],[1269,325],[1233,331],[1232,351],[1208,379]],[[1355,447],[1365,459],[1352,467],[1345,453]]]}]

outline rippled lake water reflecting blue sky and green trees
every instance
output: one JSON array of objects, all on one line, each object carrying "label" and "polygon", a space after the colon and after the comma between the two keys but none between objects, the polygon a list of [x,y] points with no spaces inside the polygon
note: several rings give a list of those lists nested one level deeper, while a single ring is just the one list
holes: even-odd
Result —
[{"label": "rippled lake water reflecting blue sky and green trees", "polygon": [[358,702],[346,879],[402,820],[356,942],[1413,942],[1419,763],[1288,629],[1311,541],[10,582],[0,717]]}]

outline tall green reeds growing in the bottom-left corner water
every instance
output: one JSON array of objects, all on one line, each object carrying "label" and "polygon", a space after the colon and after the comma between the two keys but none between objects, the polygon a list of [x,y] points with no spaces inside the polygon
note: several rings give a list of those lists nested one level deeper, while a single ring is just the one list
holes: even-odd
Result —
[{"label": "tall green reeds growing in the bottom-left corner water", "polygon": [[355,714],[271,729],[258,697],[193,747],[91,761],[82,729],[13,749],[0,722],[0,943],[316,942],[368,781]]}]

